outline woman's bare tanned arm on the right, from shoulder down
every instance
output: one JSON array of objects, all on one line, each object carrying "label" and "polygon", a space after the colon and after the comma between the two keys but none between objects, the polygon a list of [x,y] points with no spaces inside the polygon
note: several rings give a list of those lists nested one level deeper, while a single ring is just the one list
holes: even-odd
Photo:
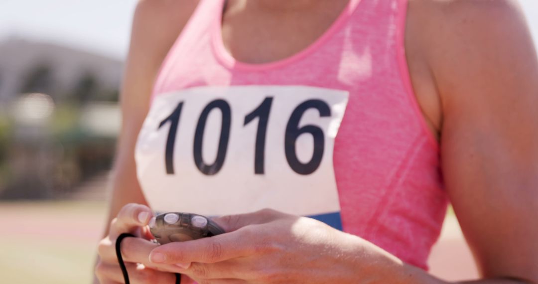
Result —
[{"label": "woman's bare tanned arm on the right, from shoulder down", "polygon": [[538,282],[538,60],[522,13],[505,0],[419,5],[443,176],[480,273]]}]

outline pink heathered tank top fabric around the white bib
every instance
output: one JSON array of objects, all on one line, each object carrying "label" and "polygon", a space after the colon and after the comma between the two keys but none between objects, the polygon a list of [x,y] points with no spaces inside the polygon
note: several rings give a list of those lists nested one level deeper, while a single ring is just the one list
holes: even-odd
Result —
[{"label": "pink heathered tank top fabric around the white bib", "polygon": [[[252,65],[226,52],[223,0],[203,0],[161,67],[153,96],[196,86],[304,85],[348,90],[334,168],[344,231],[427,268],[447,207],[435,138],[404,51],[407,0],[351,0],[290,58]],[[256,48],[256,47],[252,47]]]}]

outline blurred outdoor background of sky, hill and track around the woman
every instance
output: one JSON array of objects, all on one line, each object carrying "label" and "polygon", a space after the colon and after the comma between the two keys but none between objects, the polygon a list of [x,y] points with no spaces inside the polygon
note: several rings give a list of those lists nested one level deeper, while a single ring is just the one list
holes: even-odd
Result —
[{"label": "blurred outdoor background of sky, hill and track around the woman", "polygon": [[[0,0],[3,283],[91,279],[136,2]],[[538,1],[520,3],[538,39]],[[443,279],[477,275],[451,212],[429,262]]]}]

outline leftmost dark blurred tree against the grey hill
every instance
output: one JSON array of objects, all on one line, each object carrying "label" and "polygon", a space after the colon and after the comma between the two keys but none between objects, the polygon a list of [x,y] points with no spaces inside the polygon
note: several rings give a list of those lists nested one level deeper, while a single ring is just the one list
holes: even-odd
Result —
[{"label": "leftmost dark blurred tree against the grey hill", "polygon": [[32,68],[24,78],[20,94],[45,93],[52,95],[54,76],[52,68],[47,63],[41,63]]}]

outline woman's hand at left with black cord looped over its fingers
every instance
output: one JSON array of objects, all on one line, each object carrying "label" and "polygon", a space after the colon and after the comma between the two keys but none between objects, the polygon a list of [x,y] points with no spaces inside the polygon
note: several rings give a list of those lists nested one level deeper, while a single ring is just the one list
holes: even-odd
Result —
[{"label": "woman's hand at left with black cord looped over its fingers", "polygon": [[125,205],[112,220],[109,235],[99,242],[99,259],[95,275],[102,284],[124,283],[121,268],[116,257],[116,239],[122,233],[132,233],[136,238],[125,238],[121,251],[129,280],[133,284],[175,283],[174,273],[158,271],[150,262],[150,252],[158,246],[150,241],[151,233],[147,226],[152,211],[145,205],[130,203]]}]

